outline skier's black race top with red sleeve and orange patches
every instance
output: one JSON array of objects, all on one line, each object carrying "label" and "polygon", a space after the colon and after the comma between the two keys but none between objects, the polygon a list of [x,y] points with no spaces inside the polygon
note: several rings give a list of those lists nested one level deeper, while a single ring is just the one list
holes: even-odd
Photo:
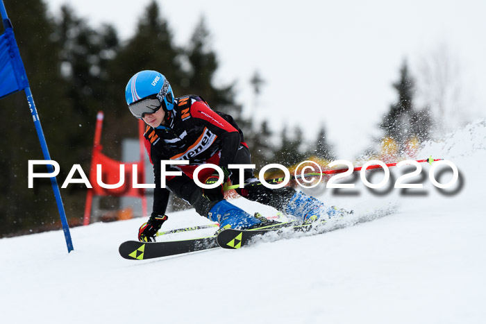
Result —
[{"label": "skier's black race top with red sleeve and orange patches", "polygon": [[[161,160],[189,160],[190,165],[169,166],[167,171],[183,171],[192,178],[192,171],[208,160],[228,167],[240,144],[246,146],[233,117],[211,110],[201,96],[194,95],[175,99],[174,110],[166,112],[164,123],[157,128],[147,126],[144,137],[155,176],[153,212],[160,215],[165,214],[169,201],[169,190],[160,187]],[[167,176],[166,186],[176,178]]]}]

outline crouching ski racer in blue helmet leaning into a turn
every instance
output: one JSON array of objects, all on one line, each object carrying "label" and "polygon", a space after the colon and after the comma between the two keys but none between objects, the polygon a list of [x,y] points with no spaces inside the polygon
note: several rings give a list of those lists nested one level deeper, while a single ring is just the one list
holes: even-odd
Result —
[{"label": "crouching ski racer in blue helmet leaning into a turn", "polygon": [[[126,85],[125,98],[133,116],[148,126],[145,137],[155,175],[153,212],[138,232],[139,241],[155,241],[165,214],[169,192],[190,203],[196,212],[219,223],[220,229],[253,228],[266,223],[260,214],[244,212],[224,199],[223,185],[202,189],[194,182],[194,169],[201,164],[216,164],[224,171],[223,184],[230,180],[239,183],[240,170],[228,169],[228,164],[251,164],[250,151],[242,130],[228,114],[215,112],[201,96],[174,98],[169,82],[157,71],[140,71]],[[169,165],[166,171],[182,171],[181,176],[166,176],[165,187],[160,185],[160,161],[189,160],[187,165]],[[198,180],[214,184],[219,179],[215,169],[203,169]],[[316,198],[291,187],[269,189],[253,176],[252,169],[244,169],[244,188],[237,193],[250,201],[257,201],[293,215],[304,222],[336,213]],[[168,189],[167,189],[168,188]]]}]

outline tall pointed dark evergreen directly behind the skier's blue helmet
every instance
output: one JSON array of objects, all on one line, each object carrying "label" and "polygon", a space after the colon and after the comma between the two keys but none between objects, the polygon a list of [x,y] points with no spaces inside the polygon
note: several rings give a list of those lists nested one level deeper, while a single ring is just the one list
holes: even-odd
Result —
[{"label": "tall pointed dark evergreen directly behind the skier's blue helmet", "polygon": [[110,82],[106,84],[103,103],[106,127],[103,137],[108,138],[104,146],[107,155],[119,158],[119,143],[124,137],[137,137],[137,121],[128,111],[124,91],[133,74],[142,70],[156,70],[164,74],[175,96],[181,96],[181,49],[173,42],[167,19],[162,15],[156,1],[151,1],[137,23],[135,35],[121,46],[109,66]]}]

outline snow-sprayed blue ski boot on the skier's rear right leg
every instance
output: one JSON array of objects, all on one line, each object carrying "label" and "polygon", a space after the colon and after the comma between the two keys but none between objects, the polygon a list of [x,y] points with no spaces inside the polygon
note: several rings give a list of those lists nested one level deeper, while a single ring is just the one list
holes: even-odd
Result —
[{"label": "snow-sprayed blue ski boot on the skier's rear right leg", "polygon": [[329,219],[346,211],[338,210],[336,207],[327,207],[318,199],[304,194],[302,191],[296,191],[294,196],[285,207],[285,213],[302,219],[303,223],[312,223],[321,217],[327,216]]}]

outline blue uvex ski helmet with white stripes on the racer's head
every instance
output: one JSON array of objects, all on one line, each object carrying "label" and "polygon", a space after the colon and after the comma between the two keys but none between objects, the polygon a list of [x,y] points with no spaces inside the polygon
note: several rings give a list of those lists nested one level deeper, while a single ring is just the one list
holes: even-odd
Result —
[{"label": "blue uvex ski helmet with white stripes on the racer's head", "polygon": [[[158,99],[162,104],[164,110],[169,111],[174,109],[174,93],[172,87],[167,81],[167,78],[158,71],[145,70],[140,71],[126,84],[125,99],[132,114],[141,118],[143,112],[140,111],[140,105],[137,107],[138,111],[134,111],[135,104],[141,103],[144,99]],[[148,108],[144,112],[155,112],[158,109]]]}]

